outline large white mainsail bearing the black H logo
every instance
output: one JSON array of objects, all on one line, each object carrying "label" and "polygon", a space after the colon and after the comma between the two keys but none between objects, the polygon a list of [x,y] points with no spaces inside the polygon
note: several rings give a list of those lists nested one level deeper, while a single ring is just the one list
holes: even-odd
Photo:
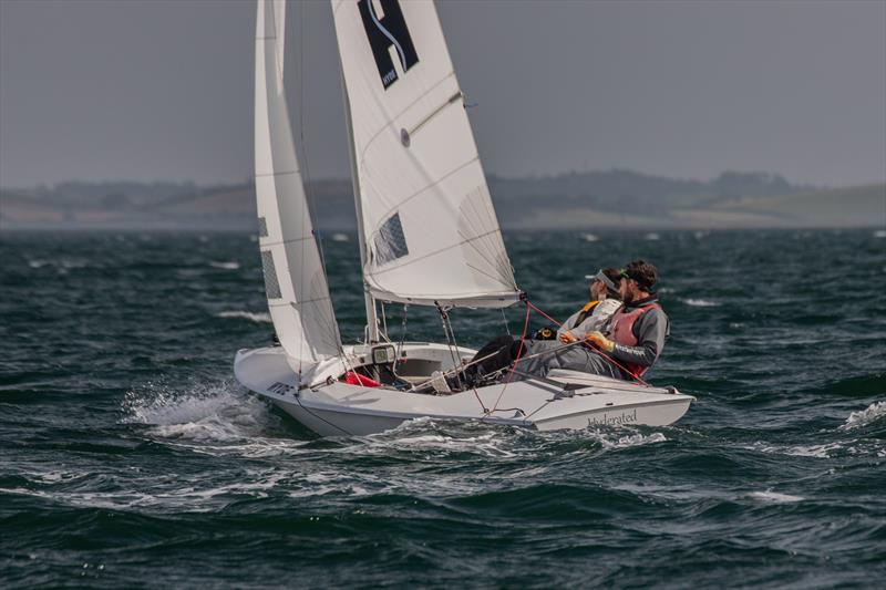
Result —
[{"label": "large white mainsail bearing the black H logo", "polygon": [[519,292],[433,3],[331,1],[371,293],[512,304]]}]

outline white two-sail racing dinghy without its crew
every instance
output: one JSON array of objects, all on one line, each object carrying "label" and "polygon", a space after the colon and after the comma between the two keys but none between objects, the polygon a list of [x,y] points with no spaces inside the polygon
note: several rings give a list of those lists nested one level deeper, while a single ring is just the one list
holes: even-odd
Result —
[{"label": "white two-sail racing dinghy without its crew", "polygon": [[[363,272],[363,341],[342,343],[296,156],[284,80],[286,2],[258,0],[258,241],[279,344],[238,351],[237,380],[324,436],[368,435],[420,417],[542,431],[679,420],[692,396],[577,371],[451,386],[446,377],[457,383],[476,351],[455,343],[449,314],[528,306],[464,97],[432,1],[331,6]],[[445,342],[392,343],[378,319],[380,306],[392,303],[436,308]]]}]

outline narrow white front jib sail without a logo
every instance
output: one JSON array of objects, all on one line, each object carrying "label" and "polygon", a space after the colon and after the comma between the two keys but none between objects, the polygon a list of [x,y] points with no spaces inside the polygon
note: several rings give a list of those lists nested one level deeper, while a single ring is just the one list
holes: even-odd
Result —
[{"label": "narrow white front jib sail without a logo", "polygon": [[258,1],[256,22],[256,199],[268,308],[293,360],[317,363],[341,348],[326,273],[296,157],[282,74],[284,0]]}]

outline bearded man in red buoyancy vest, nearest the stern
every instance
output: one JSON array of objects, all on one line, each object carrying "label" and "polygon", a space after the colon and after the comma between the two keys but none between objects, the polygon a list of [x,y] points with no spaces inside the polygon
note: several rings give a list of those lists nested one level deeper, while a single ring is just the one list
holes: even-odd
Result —
[{"label": "bearded man in red buoyancy vest, nearest the stern", "polygon": [[642,376],[661,354],[670,332],[668,317],[652,291],[657,281],[655,266],[645,260],[630,262],[620,273],[624,307],[612,315],[608,335],[600,330],[588,332],[584,340],[590,346],[529,341],[522,355],[526,361],[517,370],[540,376],[558,368],[624,380]]}]

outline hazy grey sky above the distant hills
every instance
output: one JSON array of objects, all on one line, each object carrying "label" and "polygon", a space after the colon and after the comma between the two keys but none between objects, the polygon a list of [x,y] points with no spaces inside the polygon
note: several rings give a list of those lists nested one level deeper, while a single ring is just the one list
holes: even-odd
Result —
[{"label": "hazy grey sky above the distant hills", "polygon": [[[437,9],[491,174],[886,180],[886,0]],[[346,177],[328,2],[288,24],[308,173]],[[254,34],[249,0],[0,0],[0,186],[247,179]]]}]

